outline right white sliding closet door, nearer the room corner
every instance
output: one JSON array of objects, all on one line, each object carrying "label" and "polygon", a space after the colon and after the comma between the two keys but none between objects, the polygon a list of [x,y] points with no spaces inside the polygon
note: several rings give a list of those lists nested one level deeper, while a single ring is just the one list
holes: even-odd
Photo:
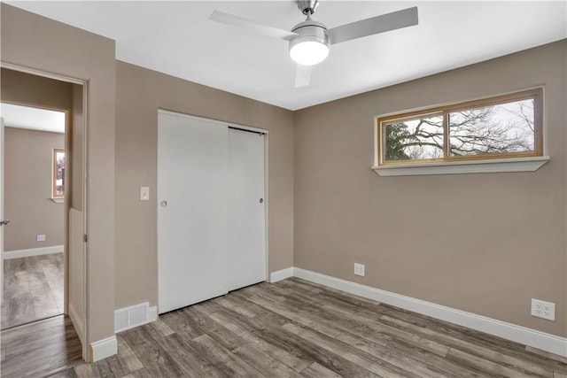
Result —
[{"label": "right white sliding closet door, nearer the room corner", "polygon": [[264,137],[229,128],[229,290],[266,281]]}]

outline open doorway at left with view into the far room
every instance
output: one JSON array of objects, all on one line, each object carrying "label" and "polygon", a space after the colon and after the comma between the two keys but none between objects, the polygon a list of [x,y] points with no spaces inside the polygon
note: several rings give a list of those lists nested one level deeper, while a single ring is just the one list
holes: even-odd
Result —
[{"label": "open doorway at left with view into the far room", "polygon": [[65,312],[67,112],[1,104],[4,290],[1,328]]}]

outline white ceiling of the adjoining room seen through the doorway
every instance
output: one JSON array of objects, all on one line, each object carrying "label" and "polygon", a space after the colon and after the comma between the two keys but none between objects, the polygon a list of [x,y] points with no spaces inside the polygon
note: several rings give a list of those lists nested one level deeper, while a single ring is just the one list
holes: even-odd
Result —
[{"label": "white ceiling of the adjoining room seen through the doorway", "polygon": [[65,112],[2,103],[0,116],[7,127],[65,133]]}]

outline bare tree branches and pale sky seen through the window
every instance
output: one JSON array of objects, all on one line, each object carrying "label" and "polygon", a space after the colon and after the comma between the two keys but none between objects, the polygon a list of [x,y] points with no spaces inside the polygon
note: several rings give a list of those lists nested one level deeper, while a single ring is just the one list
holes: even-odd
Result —
[{"label": "bare tree branches and pale sky seen through the window", "polygon": [[533,96],[382,122],[384,161],[532,152],[537,150],[535,117]]}]

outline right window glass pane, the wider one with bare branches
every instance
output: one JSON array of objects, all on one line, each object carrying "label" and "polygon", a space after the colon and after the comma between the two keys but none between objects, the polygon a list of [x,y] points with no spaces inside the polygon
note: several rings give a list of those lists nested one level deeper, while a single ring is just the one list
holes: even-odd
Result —
[{"label": "right window glass pane, the wider one with bare branches", "polygon": [[449,156],[535,150],[534,101],[450,112]]}]

